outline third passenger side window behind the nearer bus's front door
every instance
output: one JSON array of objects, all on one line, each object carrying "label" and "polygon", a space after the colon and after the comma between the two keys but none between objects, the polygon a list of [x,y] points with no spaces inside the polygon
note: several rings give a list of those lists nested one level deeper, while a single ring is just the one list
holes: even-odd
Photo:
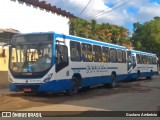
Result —
[{"label": "third passenger side window behind the nearer bus's front door", "polygon": [[93,60],[94,62],[102,62],[101,46],[93,45]]}]

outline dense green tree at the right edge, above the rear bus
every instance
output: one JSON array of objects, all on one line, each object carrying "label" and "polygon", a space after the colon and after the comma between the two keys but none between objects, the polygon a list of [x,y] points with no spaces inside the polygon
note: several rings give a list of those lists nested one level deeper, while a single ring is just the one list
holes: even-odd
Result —
[{"label": "dense green tree at the right edge, above the rear bus", "polygon": [[160,52],[160,17],[155,17],[144,24],[134,23],[133,27],[132,41],[135,49],[153,53]]}]

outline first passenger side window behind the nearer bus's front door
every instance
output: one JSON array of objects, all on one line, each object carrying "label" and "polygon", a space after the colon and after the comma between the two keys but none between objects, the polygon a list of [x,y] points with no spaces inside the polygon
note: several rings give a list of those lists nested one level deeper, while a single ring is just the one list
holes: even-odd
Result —
[{"label": "first passenger side window behind the nearer bus's front door", "polygon": [[70,54],[71,61],[81,61],[81,49],[79,42],[70,41]]}]

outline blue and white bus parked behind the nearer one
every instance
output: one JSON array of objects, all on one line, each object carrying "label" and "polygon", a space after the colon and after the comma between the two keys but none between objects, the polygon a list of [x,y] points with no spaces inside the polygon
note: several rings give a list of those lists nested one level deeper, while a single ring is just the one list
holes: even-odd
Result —
[{"label": "blue and white bus parked behind the nearer one", "polygon": [[151,79],[158,74],[156,54],[127,50],[128,79],[138,80],[139,77]]}]

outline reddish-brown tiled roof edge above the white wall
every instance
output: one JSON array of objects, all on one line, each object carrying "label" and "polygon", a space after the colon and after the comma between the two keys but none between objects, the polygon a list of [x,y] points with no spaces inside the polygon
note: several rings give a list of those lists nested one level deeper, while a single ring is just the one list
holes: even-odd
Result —
[{"label": "reddish-brown tiled roof edge above the white wall", "polygon": [[43,8],[45,10],[60,14],[62,16],[75,17],[70,12],[62,10],[61,8],[57,8],[56,6],[52,6],[50,3],[47,3],[46,1],[41,1],[41,2],[39,0],[18,0],[18,1],[25,2],[26,4],[30,4],[39,8]]}]

